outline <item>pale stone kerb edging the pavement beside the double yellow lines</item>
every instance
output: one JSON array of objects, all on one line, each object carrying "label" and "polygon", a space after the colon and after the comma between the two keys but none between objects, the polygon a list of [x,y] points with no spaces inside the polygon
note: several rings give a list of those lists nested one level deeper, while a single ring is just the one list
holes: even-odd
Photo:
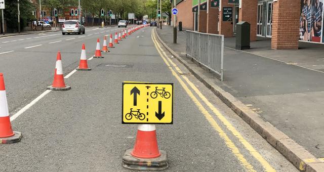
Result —
[{"label": "pale stone kerb edging the pavement beside the double yellow lines", "polygon": [[[252,111],[248,106],[218,87],[212,79],[208,78],[203,72],[197,70],[196,64],[190,64],[183,60],[159,37],[154,29],[155,35],[160,43],[198,80],[203,82],[219,99],[230,107],[238,116],[246,121],[259,135],[270,143],[277,151],[286,157],[297,169],[305,172],[324,171],[324,162],[318,160],[309,153],[304,147],[300,146],[286,134],[279,131],[269,122],[264,121],[259,114]],[[200,68],[200,67],[199,67]]]}]

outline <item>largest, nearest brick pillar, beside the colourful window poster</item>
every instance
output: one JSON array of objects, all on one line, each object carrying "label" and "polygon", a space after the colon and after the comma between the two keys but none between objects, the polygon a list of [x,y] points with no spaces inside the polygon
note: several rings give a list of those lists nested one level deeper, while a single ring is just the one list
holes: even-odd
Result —
[{"label": "largest, nearest brick pillar, beside the colourful window poster", "polygon": [[298,49],[300,4],[300,0],[273,3],[272,49]]}]

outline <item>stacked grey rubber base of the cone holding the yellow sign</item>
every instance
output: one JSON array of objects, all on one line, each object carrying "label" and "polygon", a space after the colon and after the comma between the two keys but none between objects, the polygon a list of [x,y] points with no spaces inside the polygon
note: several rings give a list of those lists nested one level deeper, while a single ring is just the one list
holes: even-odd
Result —
[{"label": "stacked grey rubber base of the cone holding the yellow sign", "polygon": [[156,158],[137,158],[132,156],[133,149],[128,149],[123,156],[123,167],[130,170],[164,170],[169,167],[166,151],[159,150]]}]

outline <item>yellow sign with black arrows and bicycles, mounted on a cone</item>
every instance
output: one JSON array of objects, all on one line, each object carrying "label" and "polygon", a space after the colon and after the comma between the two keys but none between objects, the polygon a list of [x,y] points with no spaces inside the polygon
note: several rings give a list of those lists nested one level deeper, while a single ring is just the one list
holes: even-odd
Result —
[{"label": "yellow sign with black arrows and bicycles, mounted on a cone", "polygon": [[121,123],[173,123],[173,83],[123,82]]}]

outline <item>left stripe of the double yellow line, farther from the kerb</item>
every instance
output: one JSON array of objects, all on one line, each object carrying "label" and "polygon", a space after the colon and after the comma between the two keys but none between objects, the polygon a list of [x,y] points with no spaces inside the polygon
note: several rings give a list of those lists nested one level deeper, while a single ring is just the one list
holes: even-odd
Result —
[{"label": "left stripe of the double yellow line, farther from the kerb", "polygon": [[253,166],[247,161],[247,159],[240,153],[238,148],[235,146],[235,144],[228,138],[227,134],[222,130],[222,128],[217,124],[217,122],[214,120],[212,115],[204,108],[204,106],[198,101],[198,99],[193,95],[193,93],[189,90],[187,85],[182,81],[182,79],[177,75],[177,73],[173,70],[172,67],[170,67],[169,62],[166,60],[166,58],[162,55],[161,51],[158,49],[158,43],[155,40],[154,33],[152,31],[152,40],[154,42],[154,45],[156,47],[157,52],[160,54],[161,58],[164,60],[167,66],[169,66],[169,69],[171,70],[172,74],[177,78],[179,83],[181,84],[182,88],[187,92],[189,97],[192,99],[192,101],[196,104],[196,106],[199,108],[201,113],[204,114],[208,122],[214,127],[214,130],[218,132],[219,136],[224,140],[226,146],[232,151],[234,156],[241,162],[241,165],[244,166],[244,168],[247,171],[256,171]]}]

